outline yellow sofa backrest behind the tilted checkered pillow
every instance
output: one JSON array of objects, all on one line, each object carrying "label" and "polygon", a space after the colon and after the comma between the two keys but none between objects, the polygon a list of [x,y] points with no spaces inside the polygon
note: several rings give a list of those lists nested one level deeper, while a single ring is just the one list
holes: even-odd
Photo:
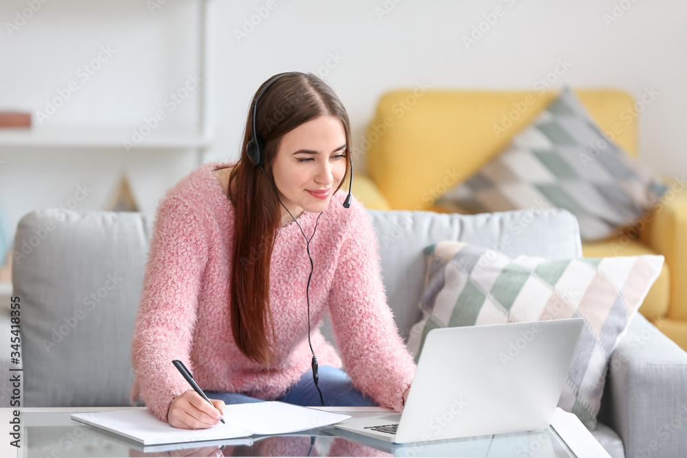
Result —
[{"label": "yellow sofa backrest behind the tilted checkered pillow", "polygon": [[[620,124],[618,113],[635,103],[632,95],[617,89],[574,92],[603,130]],[[451,183],[469,178],[502,151],[558,94],[557,90],[420,92],[417,88],[387,92],[361,142],[367,174],[392,209],[428,210]],[[400,109],[403,106],[409,109]],[[636,126],[636,117],[623,119],[622,131],[614,138],[633,155],[637,154]],[[506,132],[495,132],[502,128]]]}]

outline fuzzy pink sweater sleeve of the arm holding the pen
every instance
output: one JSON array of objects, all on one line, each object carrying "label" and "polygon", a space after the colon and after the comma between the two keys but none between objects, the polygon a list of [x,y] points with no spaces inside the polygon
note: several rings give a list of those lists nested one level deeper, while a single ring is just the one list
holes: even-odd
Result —
[{"label": "fuzzy pink sweater sleeve of the arm holding the pen", "polygon": [[190,346],[206,263],[201,217],[179,196],[161,201],[144,272],[131,360],[138,396],[163,422],[167,422],[172,400],[190,389],[172,360],[183,361],[193,372]]}]

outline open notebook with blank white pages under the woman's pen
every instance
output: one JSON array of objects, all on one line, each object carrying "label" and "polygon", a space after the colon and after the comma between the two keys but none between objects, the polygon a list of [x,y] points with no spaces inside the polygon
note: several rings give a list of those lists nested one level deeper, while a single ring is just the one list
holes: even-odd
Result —
[{"label": "open notebook with blank white pages under the woman's pen", "polygon": [[174,428],[158,420],[148,409],[72,413],[70,416],[77,422],[128,437],[146,446],[295,433],[350,418],[350,415],[308,409],[279,401],[227,405],[224,410],[226,424],[218,423],[205,429]]}]

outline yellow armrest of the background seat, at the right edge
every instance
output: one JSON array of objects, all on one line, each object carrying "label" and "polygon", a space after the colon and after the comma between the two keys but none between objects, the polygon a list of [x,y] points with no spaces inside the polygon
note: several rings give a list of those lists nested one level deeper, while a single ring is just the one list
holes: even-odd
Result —
[{"label": "yellow armrest of the background seat, at the right edge", "polygon": [[642,241],[666,257],[671,271],[668,318],[687,320],[687,183],[685,177],[666,180],[668,192],[651,214],[638,221]]}]

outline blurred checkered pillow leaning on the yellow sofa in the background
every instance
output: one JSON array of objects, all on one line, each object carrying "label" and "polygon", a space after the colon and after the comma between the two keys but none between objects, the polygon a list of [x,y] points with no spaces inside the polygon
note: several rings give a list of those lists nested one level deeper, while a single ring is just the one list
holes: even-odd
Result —
[{"label": "blurred checkered pillow leaning on the yellow sofa in the background", "polygon": [[638,222],[666,190],[608,141],[566,87],[501,154],[435,205],[459,213],[561,207],[576,216],[583,240],[601,240]]}]

